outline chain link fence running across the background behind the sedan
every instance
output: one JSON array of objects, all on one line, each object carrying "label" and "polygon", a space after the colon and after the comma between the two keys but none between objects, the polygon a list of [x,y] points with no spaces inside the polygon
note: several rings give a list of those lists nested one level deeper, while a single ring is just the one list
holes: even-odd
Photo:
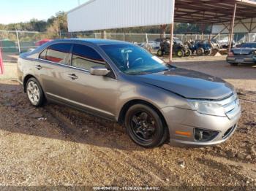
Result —
[{"label": "chain link fence running across the background behind the sedan", "polygon": [[[192,40],[217,39],[219,42],[228,42],[228,34],[174,34],[175,37],[186,42]],[[106,39],[116,39],[120,41],[145,44],[145,42],[159,41],[160,34],[105,34]],[[165,37],[170,38],[170,34]],[[69,38],[102,38],[102,34],[89,34],[87,32],[76,33],[43,33],[35,31],[0,31],[0,47],[3,59],[6,62],[16,62],[21,52],[28,52],[38,47],[40,42],[47,42],[50,39],[69,39]],[[254,34],[235,34],[234,40],[238,43],[255,42]]]}]

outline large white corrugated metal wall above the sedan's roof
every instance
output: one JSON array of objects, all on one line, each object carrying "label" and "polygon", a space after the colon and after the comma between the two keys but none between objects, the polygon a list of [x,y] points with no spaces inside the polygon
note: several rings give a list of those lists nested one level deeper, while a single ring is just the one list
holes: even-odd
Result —
[{"label": "large white corrugated metal wall above the sedan's roof", "polygon": [[67,13],[69,32],[173,23],[175,0],[92,0]]}]

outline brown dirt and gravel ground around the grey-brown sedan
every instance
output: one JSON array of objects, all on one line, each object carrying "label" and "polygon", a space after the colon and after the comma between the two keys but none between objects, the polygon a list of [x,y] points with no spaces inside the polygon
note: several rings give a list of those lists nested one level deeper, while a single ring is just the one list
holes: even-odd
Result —
[{"label": "brown dirt and gravel ground around the grey-brown sedan", "polygon": [[116,123],[55,104],[35,109],[7,71],[0,76],[0,186],[256,186],[256,68],[212,57],[174,64],[238,87],[242,117],[224,144],[143,149]]}]

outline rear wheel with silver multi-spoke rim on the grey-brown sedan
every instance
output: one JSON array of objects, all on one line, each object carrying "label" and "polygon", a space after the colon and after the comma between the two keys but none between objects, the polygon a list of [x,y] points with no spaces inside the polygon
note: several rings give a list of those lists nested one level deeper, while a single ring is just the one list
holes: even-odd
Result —
[{"label": "rear wheel with silver multi-spoke rim on the grey-brown sedan", "polygon": [[41,85],[34,77],[31,77],[28,82],[26,82],[26,94],[33,106],[42,106],[44,101],[44,94],[42,92]]}]

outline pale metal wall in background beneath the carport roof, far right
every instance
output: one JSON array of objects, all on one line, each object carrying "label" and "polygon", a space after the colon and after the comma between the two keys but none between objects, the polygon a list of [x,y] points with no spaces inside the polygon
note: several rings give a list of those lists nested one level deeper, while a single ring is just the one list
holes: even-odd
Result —
[{"label": "pale metal wall in background beneath the carport roof, far right", "polygon": [[[244,19],[241,20],[241,23],[239,23],[240,21],[236,20],[235,23],[235,28],[234,28],[234,33],[256,33],[256,17],[252,19],[252,26],[251,26],[251,18],[249,19]],[[228,26],[228,28],[225,28],[225,25]],[[213,26],[212,28],[212,34],[219,34],[220,31],[222,31],[224,28],[225,30],[222,31],[222,34],[227,34],[229,33],[228,29],[230,27],[230,23],[225,23],[225,25],[223,24],[216,24]],[[252,31],[248,31],[248,29],[251,27],[251,29],[253,29]],[[248,28],[248,29],[247,29]]]}]

